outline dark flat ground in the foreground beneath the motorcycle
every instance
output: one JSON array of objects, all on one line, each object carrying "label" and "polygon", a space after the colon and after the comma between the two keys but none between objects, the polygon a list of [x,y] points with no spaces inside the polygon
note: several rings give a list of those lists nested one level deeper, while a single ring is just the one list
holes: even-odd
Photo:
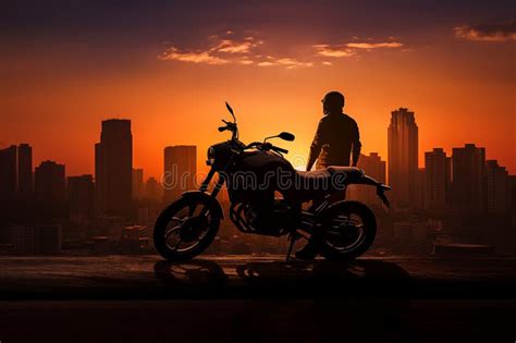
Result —
[{"label": "dark flat ground in the foreground beneath the motorcycle", "polygon": [[514,342],[516,259],[1,257],[3,342]]}]

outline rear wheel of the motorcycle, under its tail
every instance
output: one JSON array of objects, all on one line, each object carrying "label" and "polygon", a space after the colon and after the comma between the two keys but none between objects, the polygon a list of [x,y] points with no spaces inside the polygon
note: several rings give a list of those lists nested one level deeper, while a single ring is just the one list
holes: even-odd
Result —
[{"label": "rear wheel of the motorcycle, under its tail", "polygon": [[320,254],[331,260],[352,260],[374,242],[377,221],[366,205],[339,201],[323,215]]}]

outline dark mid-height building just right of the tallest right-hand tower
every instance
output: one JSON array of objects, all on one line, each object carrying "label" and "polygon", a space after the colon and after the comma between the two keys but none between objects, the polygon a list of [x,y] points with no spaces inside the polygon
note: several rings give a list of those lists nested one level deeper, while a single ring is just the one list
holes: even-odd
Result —
[{"label": "dark mid-height building just right of the tallest right-hand tower", "polygon": [[425,152],[425,209],[442,212],[449,205],[452,159],[442,148]]}]

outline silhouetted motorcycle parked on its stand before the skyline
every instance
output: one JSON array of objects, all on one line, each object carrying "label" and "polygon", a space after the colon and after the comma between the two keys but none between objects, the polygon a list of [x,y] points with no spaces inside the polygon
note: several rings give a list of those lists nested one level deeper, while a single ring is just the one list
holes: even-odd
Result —
[{"label": "silhouetted motorcycle parked on its stand before the skyline", "polygon": [[[231,139],[208,149],[210,171],[198,191],[184,192],[158,217],[153,242],[168,260],[187,260],[201,254],[216,238],[224,213],[217,200],[225,184],[230,198],[229,217],[244,233],[269,236],[288,235],[290,247],[299,238],[317,234],[319,254],[331,260],[351,260],[371,246],[377,232],[376,218],[364,204],[345,200],[351,184],[370,185],[389,207],[382,184],[354,167],[328,167],[297,171],[283,157],[288,151],[270,142],[292,142],[287,132],[248,145],[238,139],[233,109],[225,103],[233,121],[222,120],[219,132],[231,132]],[[214,175],[211,193],[208,192]],[[311,201],[309,208],[304,204]]]}]

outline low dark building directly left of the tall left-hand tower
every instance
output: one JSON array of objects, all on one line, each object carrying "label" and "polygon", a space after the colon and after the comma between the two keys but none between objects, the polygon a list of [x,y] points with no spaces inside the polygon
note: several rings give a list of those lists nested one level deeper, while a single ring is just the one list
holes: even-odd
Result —
[{"label": "low dark building directly left of the tall left-hand tower", "polygon": [[67,181],[70,220],[75,224],[88,224],[95,215],[94,176],[70,176]]}]

